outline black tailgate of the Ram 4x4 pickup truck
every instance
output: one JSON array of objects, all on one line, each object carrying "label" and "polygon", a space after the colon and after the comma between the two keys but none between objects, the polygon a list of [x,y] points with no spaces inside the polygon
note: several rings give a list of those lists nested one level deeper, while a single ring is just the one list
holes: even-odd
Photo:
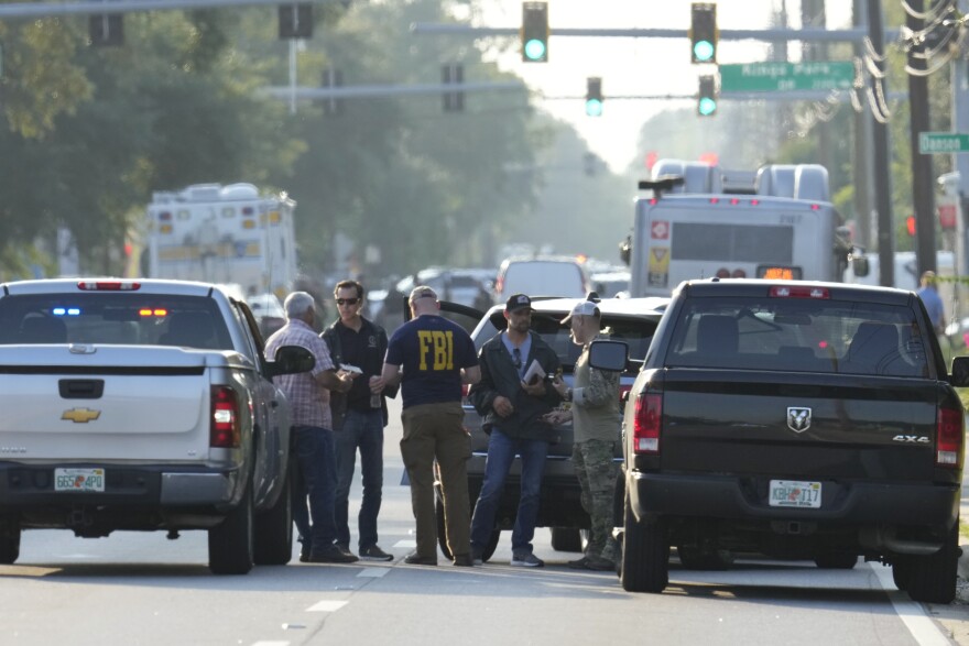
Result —
[{"label": "black tailgate of the Ram 4x4 pickup truck", "polygon": [[725,372],[666,372],[664,471],[933,479],[939,397],[934,381],[917,380],[913,387],[912,379]]}]

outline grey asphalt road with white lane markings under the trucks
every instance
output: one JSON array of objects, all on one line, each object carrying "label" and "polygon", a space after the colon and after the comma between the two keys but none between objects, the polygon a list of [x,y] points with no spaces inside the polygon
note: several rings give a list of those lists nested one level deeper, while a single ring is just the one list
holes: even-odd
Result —
[{"label": "grey asphalt road with white lane markings under the trucks", "polygon": [[392,563],[294,560],[214,577],[202,532],[177,540],[28,532],[18,565],[0,567],[0,644],[969,645],[967,635],[949,637],[966,633],[969,606],[913,603],[894,590],[888,568],[867,563],[847,572],[769,560],[741,560],[726,572],[674,563],[664,594],[631,594],[612,573],[569,570],[576,555],[552,550],[540,529],[544,569],[511,567],[507,533],[481,568],[443,559],[437,568],[405,566],[414,540],[400,433],[399,423],[388,428],[380,522]]}]

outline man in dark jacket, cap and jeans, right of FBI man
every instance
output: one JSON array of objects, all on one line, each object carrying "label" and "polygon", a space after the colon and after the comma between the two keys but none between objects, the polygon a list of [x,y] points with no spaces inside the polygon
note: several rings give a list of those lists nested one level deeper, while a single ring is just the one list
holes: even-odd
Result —
[{"label": "man in dark jacket, cap and jeans, right of FBI man", "polygon": [[529,328],[532,325],[532,300],[515,294],[504,306],[508,329],[499,332],[481,348],[478,361],[481,381],[468,397],[484,418],[489,434],[484,482],[471,518],[471,556],[481,562],[488,538],[494,529],[494,514],[515,455],[522,459],[522,485],[518,515],[511,535],[511,565],[540,568],[545,562],[532,552],[532,538],[538,517],[538,494],[542,473],[548,456],[552,430],[542,417],[560,397],[541,376],[525,383],[530,366],[536,363],[545,374],[558,371],[558,355]]}]

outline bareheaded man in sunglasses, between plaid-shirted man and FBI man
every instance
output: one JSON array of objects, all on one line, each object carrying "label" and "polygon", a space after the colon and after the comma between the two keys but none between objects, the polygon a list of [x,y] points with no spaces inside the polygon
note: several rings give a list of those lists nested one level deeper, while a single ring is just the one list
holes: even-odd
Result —
[{"label": "bareheaded man in sunglasses, between plaid-shirted man and FBI man", "polygon": [[386,386],[381,376],[386,332],[361,316],[363,285],[359,282],[337,283],[334,297],[340,318],[320,336],[336,365],[362,372],[348,393],[330,396],[337,455],[337,545],[349,551],[350,484],[359,450],[363,500],[357,516],[357,548],[362,560],[390,561],[393,556],[377,545],[377,516],[383,490],[383,427],[388,423],[384,397],[393,397],[398,391],[396,386]]}]

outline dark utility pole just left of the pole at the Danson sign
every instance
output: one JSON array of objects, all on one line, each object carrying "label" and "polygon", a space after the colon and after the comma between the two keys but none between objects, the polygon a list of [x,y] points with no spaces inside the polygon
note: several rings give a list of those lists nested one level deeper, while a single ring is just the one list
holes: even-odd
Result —
[{"label": "dark utility pole just left of the pole at the Danson sign", "polygon": [[[868,0],[868,30],[872,50],[879,56],[885,52],[884,30],[882,29],[881,0]],[[874,79],[884,87],[884,79]],[[872,123],[874,156],[875,209],[878,209],[879,242],[879,284],[891,287],[895,284],[895,227],[892,217],[892,175],[889,165],[889,124],[886,119],[875,119]]]}]

